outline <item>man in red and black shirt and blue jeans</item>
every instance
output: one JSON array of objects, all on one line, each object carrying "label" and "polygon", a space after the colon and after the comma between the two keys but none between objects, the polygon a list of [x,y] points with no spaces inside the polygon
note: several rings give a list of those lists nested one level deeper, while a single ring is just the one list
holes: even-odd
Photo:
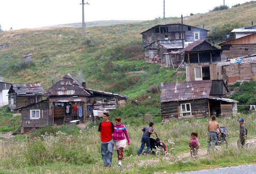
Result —
[{"label": "man in red and black shirt and blue jeans", "polygon": [[111,167],[114,149],[114,125],[110,120],[108,120],[108,117],[108,113],[103,113],[103,121],[99,123],[98,129],[101,134],[101,155],[105,167]]}]

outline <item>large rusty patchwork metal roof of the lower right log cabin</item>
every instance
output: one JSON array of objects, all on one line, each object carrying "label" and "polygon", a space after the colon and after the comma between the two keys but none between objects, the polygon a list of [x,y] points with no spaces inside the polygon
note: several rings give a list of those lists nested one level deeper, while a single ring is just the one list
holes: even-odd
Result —
[{"label": "large rusty patchwork metal roof of the lower right log cabin", "polygon": [[209,98],[211,80],[161,83],[161,102]]}]

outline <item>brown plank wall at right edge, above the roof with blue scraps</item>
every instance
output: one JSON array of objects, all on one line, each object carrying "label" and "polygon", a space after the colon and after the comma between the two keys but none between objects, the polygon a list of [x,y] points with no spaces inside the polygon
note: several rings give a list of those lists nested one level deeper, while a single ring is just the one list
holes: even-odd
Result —
[{"label": "brown plank wall at right edge, above the roof with blue scraps", "polygon": [[256,53],[256,44],[221,45],[221,59],[234,59]]}]

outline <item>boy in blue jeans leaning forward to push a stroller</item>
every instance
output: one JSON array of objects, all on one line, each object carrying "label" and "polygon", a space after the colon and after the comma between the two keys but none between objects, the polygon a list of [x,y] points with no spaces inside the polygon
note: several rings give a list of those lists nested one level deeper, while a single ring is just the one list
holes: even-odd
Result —
[{"label": "boy in blue jeans leaning forward to push a stroller", "polygon": [[138,150],[138,153],[136,156],[140,156],[140,154],[142,153],[142,150],[144,149],[145,143],[146,143],[147,149],[146,149],[146,152],[144,153],[144,155],[149,155],[149,149],[150,149],[149,137],[151,134],[156,133],[154,131],[154,123],[150,122],[149,127],[143,127],[142,131],[143,131],[142,140],[141,140],[142,144],[141,144],[140,149]]}]

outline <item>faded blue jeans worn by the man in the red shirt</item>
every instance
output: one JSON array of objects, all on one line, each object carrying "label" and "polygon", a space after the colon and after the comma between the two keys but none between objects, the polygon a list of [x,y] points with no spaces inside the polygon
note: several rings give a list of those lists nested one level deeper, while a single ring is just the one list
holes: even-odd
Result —
[{"label": "faded blue jeans worn by the man in the red shirt", "polygon": [[108,142],[101,142],[101,155],[104,165],[108,165],[112,163],[112,154],[114,149],[114,140],[110,140]]}]

